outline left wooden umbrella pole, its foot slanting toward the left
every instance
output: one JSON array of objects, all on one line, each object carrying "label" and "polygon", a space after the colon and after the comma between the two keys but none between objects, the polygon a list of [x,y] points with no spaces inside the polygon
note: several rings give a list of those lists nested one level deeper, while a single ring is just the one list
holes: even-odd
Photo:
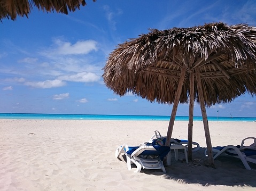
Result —
[{"label": "left wooden umbrella pole, its foot slanting toward the left", "polygon": [[185,78],[185,72],[186,72],[186,68],[185,68],[185,65],[183,65],[183,68],[181,69],[181,76],[180,76],[180,80],[179,80],[179,85],[177,87],[177,91],[176,91],[176,94],[175,94],[172,114],[170,115],[170,121],[169,121],[166,143],[165,143],[166,146],[170,145],[170,139],[172,138],[173,125],[174,125],[174,120],[175,120],[175,117],[176,117],[176,112],[177,112],[177,109],[178,109],[178,104],[179,104],[179,101],[180,101],[181,90],[182,90],[182,86],[183,86],[183,82],[184,82],[184,78]]}]

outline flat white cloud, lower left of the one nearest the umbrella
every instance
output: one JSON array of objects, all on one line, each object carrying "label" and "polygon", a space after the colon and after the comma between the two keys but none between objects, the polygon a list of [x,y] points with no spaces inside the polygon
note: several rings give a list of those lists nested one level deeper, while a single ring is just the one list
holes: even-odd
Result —
[{"label": "flat white cloud, lower left of the one nearest the umbrella", "polygon": [[61,86],[65,86],[66,83],[64,81],[61,80],[45,80],[45,81],[37,81],[37,82],[33,82],[33,81],[28,81],[25,82],[24,85],[26,86],[31,86],[34,88],[56,88],[56,87],[61,87]]}]

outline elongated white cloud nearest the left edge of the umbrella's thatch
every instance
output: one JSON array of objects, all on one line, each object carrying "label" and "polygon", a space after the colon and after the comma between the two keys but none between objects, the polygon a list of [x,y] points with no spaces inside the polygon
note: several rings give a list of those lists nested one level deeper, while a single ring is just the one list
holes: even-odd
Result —
[{"label": "elongated white cloud nearest the left edge of the umbrella's thatch", "polygon": [[58,79],[75,82],[94,82],[98,81],[100,77],[92,72],[78,72],[75,74],[60,75]]}]

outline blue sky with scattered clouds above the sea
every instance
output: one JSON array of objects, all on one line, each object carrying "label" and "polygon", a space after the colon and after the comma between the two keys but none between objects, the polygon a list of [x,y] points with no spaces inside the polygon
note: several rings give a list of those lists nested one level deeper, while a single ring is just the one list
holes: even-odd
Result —
[{"label": "blue sky with scattered clouds above the sea", "polygon": [[[0,23],[0,112],[170,115],[151,103],[106,88],[102,68],[116,45],[150,28],[208,22],[256,26],[256,1],[87,0],[68,15],[34,8],[28,19]],[[243,95],[207,109],[208,116],[256,117],[256,98]],[[188,115],[180,104],[177,115]],[[217,112],[219,111],[219,113]],[[195,105],[195,116],[201,116]]]}]

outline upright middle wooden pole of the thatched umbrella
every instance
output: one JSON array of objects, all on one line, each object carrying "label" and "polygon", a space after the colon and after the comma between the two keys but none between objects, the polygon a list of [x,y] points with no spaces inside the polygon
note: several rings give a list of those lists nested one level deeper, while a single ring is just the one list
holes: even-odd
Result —
[{"label": "upright middle wooden pole of the thatched umbrella", "polygon": [[193,137],[193,110],[194,110],[194,71],[189,74],[190,89],[189,89],[189,125],[188,125],[188,160],[192,161],[192,137]]}]

